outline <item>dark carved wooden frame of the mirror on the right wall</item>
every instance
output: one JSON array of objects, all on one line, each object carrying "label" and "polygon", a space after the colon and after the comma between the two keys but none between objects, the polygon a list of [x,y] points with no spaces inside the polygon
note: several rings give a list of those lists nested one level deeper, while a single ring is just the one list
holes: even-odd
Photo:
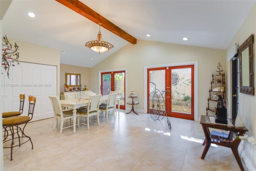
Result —
[{"label": "dark carved wooden frame of the mirror on the right wall", "polygon": [[[242,52],[249,48],[249,86],[242,85]],[[254,95],[254,85],[253,85],[253,34],[241,45],[239,46],[239,75],[240,75],[240,93],[245,93],[249,95]]]}]

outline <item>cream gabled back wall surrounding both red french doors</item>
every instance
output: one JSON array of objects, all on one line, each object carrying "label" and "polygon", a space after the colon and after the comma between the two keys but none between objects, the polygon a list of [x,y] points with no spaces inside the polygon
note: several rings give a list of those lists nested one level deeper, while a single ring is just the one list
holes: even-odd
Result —
[{"label": "cream gabled back wall surrounding both red french doors", "polygon": [[138,94],[136,101],[140,103],[136,105],[136,109],[144,110],[144,103],[146,103],[144,101],[144,66],[188,61],[198,61],[198,114],[200,117],[206,114],[211,75],[216,73],[218,62],[221,62],[222,66],[226,64],[225,50],[138,40],[137,44],[128,44],[91,68],[92,90],[98,92],[99,70],[126,68],[126,94],[130,89],[135,89]]}]

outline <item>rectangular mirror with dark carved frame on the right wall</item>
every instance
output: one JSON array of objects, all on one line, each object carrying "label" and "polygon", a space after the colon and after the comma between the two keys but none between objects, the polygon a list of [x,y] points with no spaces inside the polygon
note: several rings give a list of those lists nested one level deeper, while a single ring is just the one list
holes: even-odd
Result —
[{"label": "rectangular mirror with dark carved frame on the right wall", "polygon": [[239,47],[240,93],[254,95],[253,35]]}]

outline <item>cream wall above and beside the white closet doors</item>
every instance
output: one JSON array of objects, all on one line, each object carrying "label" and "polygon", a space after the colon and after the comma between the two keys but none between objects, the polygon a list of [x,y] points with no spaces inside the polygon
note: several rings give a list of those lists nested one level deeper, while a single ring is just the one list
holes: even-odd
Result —
[{"label": "cream wall above and beside the white closet doors", "polygon": [[[8,38],[8,37],[7,37]],[[30,44],[19,40],[13,40],[8,38],[11,44],[19,46],[21,62],[31,62],[36,64],[46,64],[57,66],[57,95],[60,94],[60,51],[45,46],[39,46],[36,44]]]}]

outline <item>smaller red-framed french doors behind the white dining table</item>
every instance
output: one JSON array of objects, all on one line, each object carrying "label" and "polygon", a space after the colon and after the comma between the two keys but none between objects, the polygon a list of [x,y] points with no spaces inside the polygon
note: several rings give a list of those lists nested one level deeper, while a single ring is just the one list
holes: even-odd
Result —
[{"label": "smaller red-framed french doors behind the white dining table", "polygon": [[121,96],[120,109],[125,109],[125,71],[102,72],[101,94],[108,95],[110,91],[116,91]]}]

